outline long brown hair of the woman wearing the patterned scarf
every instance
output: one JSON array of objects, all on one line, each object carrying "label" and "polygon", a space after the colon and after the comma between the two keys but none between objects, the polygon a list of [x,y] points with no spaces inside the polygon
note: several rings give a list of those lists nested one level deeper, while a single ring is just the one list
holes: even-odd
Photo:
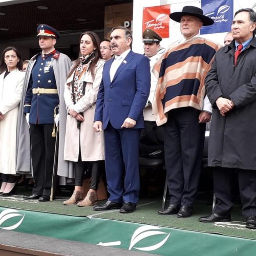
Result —
[{"label": "long brown hair of the woman wearing the patterned scarf", "polygon": [[[100,58],[102,58],[101,56],[101,53],[100,53],[100,40],[99,40],[99,37],[96,33],[92,32],[92,31],[87,31],[87,32],[84,32],[80,35],[80,38],[79,38],[79,42],[81,41],[81,38],[83,37],[83,35],[89,35],[93,41],[93,46],[96,48],[95,50],[93,50],[94,52],[94,60],[93,60],[93,63],[90,67],[90,69],[92,69],[92,74],[94,73],[94,69],[95,69],[95,65],[96,63],[98,62],[98,60]],[[76,60],[74,60],[73,62],[73,67],[72,69],[70,70],[69,74],[68,74],[68,77],[70,77],[72,75],[72,73],[74,72],[74,70],[77,68],[78,64],[79,64],[79,61],[80,61],[80,57],[81,57],[81,52],[79,52],[79,56]]]}]

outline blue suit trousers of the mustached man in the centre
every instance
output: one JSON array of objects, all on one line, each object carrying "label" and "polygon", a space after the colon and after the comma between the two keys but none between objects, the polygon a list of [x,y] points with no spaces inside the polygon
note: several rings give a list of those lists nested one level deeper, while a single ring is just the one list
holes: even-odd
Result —
[{"label": "blue suit trousers of the mustached man in the centre", "polygon": [[105,168],[110,201],[139,200],[140,129],[115,129],[109,122],[104,130]]}]

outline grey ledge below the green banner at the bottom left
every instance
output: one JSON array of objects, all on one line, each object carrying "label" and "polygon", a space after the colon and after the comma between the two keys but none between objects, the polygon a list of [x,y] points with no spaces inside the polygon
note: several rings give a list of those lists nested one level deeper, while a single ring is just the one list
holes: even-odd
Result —
[{"label": "grey ledge below the green banner at the bottom left", "polygon": [[148,253],[129,251],[114,247],[98,246],[88,243],[69,241],[63,239],[38,236],[16,231],[0,230],[0,255],[40,255],[40,256],[94,256],[94,255],[113,255],[113,256],[143,256],[152,255]]}]

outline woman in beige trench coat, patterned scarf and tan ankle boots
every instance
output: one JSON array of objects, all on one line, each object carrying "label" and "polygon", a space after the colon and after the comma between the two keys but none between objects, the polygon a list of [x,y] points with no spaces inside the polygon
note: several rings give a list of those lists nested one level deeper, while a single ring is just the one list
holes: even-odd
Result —
[{"label": "woman in beige trench coat, patterned scarf and tan ankle boots", "polygon": [[[64,98],[68,117],[64,160],[75,162],[75,190],[71,198],[63,202],[64,205],[90,206],[98,201],[99,165],[104,160],[103,132],[95,133],[93,130],[95,102],[104,65],[100,59],[99,42],[94,32],[81,34],[79,58],[74,61],[66,81]],[[91,188],[83,199],[85,162],[91,162],[92,177]]]}]

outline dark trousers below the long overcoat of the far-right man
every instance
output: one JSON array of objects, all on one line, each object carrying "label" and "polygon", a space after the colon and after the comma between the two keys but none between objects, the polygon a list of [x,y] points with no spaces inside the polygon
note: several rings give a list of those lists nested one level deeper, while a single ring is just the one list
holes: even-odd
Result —
[{"label": "dark trousers below the long overcoat of the far-right man", "polygon": [[[244,217],[256,215],[256,170],[237,169],[242,214]],[[216,205],[213,212],[226,215],[233,206],[232,202],[232,176],[231,168],[214,168],[214,194]]]}]

